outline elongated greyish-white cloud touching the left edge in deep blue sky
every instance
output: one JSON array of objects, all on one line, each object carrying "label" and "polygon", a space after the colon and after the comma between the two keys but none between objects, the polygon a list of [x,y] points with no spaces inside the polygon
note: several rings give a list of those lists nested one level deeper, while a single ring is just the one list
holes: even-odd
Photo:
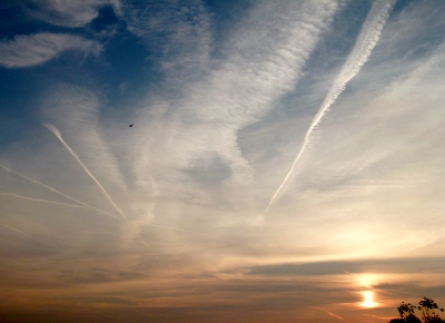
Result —
[{"label": "elongated greyish-white cloud touching the left edge in deep blue sky", "polygon": [[98,55],[101,48],[97,41],[66,33],[16,36],[12,40],[0,42],[0,66],[30,67],[53,59],[67,50]]}]

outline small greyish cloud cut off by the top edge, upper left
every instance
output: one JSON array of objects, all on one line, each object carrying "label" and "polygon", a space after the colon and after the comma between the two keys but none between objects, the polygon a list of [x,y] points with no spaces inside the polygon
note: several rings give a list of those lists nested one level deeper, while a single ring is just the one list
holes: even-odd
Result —
[{"label": "small greyish cloud cut off by the top edge, upper left", "polygon": [[71,28],[90,22],[103,6],[111,6],[116,14],[121,14],[119,0],[32,0],[31,3],[31,16],[52,25]]}]

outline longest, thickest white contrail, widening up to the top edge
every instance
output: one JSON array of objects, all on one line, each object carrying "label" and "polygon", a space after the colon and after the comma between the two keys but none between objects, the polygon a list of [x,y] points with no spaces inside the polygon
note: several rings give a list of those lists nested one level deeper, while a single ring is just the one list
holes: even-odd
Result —
[{"label": "longest, thickest white contrail, widening up to the top edge", "polygon": [[376,0],[370,8],[368,16],[362,27],[360,35],[357,38],[357,41],[349,53],[345,65],[343,66],[338,77],[335,79],[333,86],[327,92],[322,106],[318,109],[317,115],[314,117],[310,123],[309,129],[305,135],[305,140],[303,143],[301,148],[298,151],[297,157],[294,160],[294,164],[290,167],[290,170],[287,173],[285,179],[281,185],[278,187],[277,192],[275,192],[271,197],[269,205],[267,206],[265,213],[267,213],[278,198],[286,183],[294,173],[295,166],[297,165],[299,158],[305,151],[307,145],[309,144],[309,138],[315,127],[319,124],[325,114],[329,110],[329,107],[335,102],[338,96],[344,91],[347,82],[355,77],[362,66],[368,60],[369,55],[374,47],[377,45],[377,41],[380,37],[382,29],[385,26],[386,19],[389,16],[389,11],[393,8],[396,0]]}]

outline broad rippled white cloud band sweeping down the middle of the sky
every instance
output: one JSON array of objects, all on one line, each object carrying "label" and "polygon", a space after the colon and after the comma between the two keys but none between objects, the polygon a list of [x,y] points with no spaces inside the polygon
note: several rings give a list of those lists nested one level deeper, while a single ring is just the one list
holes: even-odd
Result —
[{"label": "broad rippled white cloud band sweeping down the middle of the sky", "polygon": [[[149,167],[156,169],[152,174],[160,190],[164,187],[165,193],[175,198],[194,196],[196,202],[208,205],[222,202],[226,207],[243,209],[244,214],[255,213],[249,196],[254,173],[238,146],[238,130],[264,117],[283,95],[293,90],[320,32],[329,26],[336,10],[337,3],[333,1],[260,2],[238,26],[241,32],[231,35],[222,45],[225,59],[212,60],[210,66],[208,60],[200,59],[201,51],[196,48],[201,39],[206,41],[205,48],[209,48],[208,39],[201,37],[208,33],[205,23],[185,28],[180,20],[178,27],[168,27],[174,31],[167,48],[185,46],[177,42],[180,30],[202,29],[187,33],[192,37],[187,38],[186,48],[194,50],[180,50],[184,56],[178,58],[178,63],[187,69],[191,59],[199,62],[198,67],[191,65],[192,69],[204,72],[197,80],[182,78],[178,65],[168,63],[177,57],[175,51],[167,50],[160,63],[168,76],[164,86],[166,96],[140,111],[141,123],[149,120],[141,127],[156,134],[158,139],[146,146],[147,151],[139,160],[151,156]],[[198,21],[201,20],[205,21],[205,16],[198,16]],[[156,39],[149,37],[152,35],[149,23],[155,22],[148,18],[135,18],[135,21],[141,21],[136,25],[140,37],[149,41]],[[261,42],[265,38],[270,42]],[[180,91],[171,91],[177,85]],[[158,112],[155,107],[159,107]],[[145,167],[142,163],[139,165]],[[206,175],[194,170],[197,165],[221,170],[224,176],[211,177],[220,190],[202,188]],[[147,174],[144,168],[137,172]]]}]

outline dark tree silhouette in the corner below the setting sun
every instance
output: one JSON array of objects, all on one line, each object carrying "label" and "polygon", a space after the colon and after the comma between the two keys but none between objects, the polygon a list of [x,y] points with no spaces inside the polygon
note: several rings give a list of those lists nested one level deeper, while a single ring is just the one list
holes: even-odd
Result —
[{"label": "dark tree silhouette in the corner below the setting sun", "polygon": [[445,323],[445,320],[442,320],[434,310],[439,310],[444,312],[444,309],[439,309],[437,303],[434,302],[433,298],[427,298],[423,296],[423,298],[418,302],[417,310],[422,312],[422,321],[414,314],[416,306],[402,302],[400,306],[397,307],[398,314],[400,319],[393,319],[389,323],[402,323],[402,322],[411,322],[411,323]]}]

